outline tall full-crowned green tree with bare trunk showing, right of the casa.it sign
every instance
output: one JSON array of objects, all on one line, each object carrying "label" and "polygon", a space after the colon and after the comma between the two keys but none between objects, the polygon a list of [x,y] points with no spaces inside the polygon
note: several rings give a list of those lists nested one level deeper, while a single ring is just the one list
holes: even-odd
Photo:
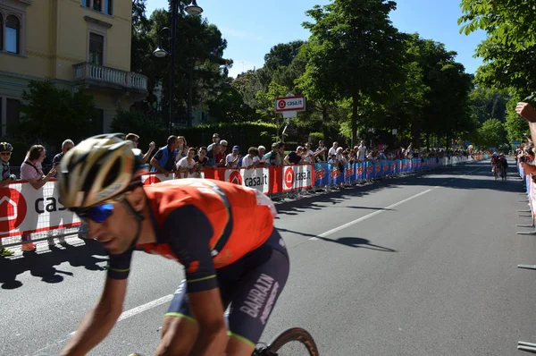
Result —
[{"label": "tall full-crowned green tree with bare trunk showing, right of the casa.it sign", "polygon": [[351,99],[352,145],[364,98],[386,99],[402,78],[403,36],[389,21],[395,8],[388,0],[334,0],[306,12],[314,22],[303,24],[313,43],[304,81],[322,88],[325,102]]}]

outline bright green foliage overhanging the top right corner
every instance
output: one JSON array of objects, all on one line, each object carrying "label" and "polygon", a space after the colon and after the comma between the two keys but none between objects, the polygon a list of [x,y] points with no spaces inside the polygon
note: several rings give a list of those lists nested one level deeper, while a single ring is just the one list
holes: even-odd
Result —
[{"label": "bright green foliage overhanging the top right corner", "polygon": [[476,49],[484,65],[477,80],[488,88],[536,91],[536,21],[533,1],[462,0],[460,33],[486,31]]}]

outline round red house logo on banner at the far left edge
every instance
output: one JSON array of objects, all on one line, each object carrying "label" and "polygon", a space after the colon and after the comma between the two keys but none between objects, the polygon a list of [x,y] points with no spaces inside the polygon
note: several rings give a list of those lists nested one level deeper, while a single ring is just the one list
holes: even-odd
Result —
[{"label": "round red house logo on banner at the far left edge", "polygon": [[0,232],[9,232],[22,224],[28,205],[22,194],[11,188],[0,188],[0,197]]}]

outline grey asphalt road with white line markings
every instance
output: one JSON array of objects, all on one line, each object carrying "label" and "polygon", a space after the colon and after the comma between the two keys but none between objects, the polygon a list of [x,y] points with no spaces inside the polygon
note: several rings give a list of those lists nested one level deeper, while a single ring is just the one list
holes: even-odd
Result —
[{"label": "grey asphalt road with white line markings", "polygon": [[[514,355],[536,343],[536,239],[516,235],[523,185],[487,163],[375,182],[278,205],[289,282],[264,341],[290,326],[321,355]],[[105,253],[70,240],[0,260],[0,354],[58,352],[102,288]],[[150,355],[183,273],[136,252],[125,313],[91,355]]]}]

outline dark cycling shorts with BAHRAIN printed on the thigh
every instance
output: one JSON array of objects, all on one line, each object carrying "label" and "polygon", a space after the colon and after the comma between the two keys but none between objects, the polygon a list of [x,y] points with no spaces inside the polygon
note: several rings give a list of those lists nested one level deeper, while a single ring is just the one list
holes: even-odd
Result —
[{"label": "dark cycling shorts with BAHRAIN printed on the thigh", "polygon": [[[273,228],[263,245],[233,264],[216,270],[229,335],[255,347],[289,277],[289,255]],[[195,321],[189,309],[186,280],[180,282],[166,317]]]}]

